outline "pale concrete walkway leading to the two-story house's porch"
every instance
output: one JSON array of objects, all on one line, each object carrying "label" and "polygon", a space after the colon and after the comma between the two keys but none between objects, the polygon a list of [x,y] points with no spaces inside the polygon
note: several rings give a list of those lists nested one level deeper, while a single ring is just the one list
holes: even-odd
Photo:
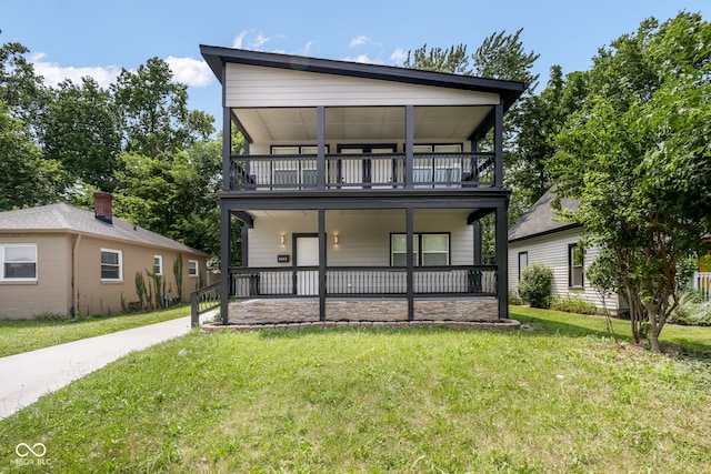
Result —
[{"label": "pale concrete walkway leading to the two-story house's porch", "polygon": [[129,352],[188,332],[190,316],[0,357],[0,420]]}]

